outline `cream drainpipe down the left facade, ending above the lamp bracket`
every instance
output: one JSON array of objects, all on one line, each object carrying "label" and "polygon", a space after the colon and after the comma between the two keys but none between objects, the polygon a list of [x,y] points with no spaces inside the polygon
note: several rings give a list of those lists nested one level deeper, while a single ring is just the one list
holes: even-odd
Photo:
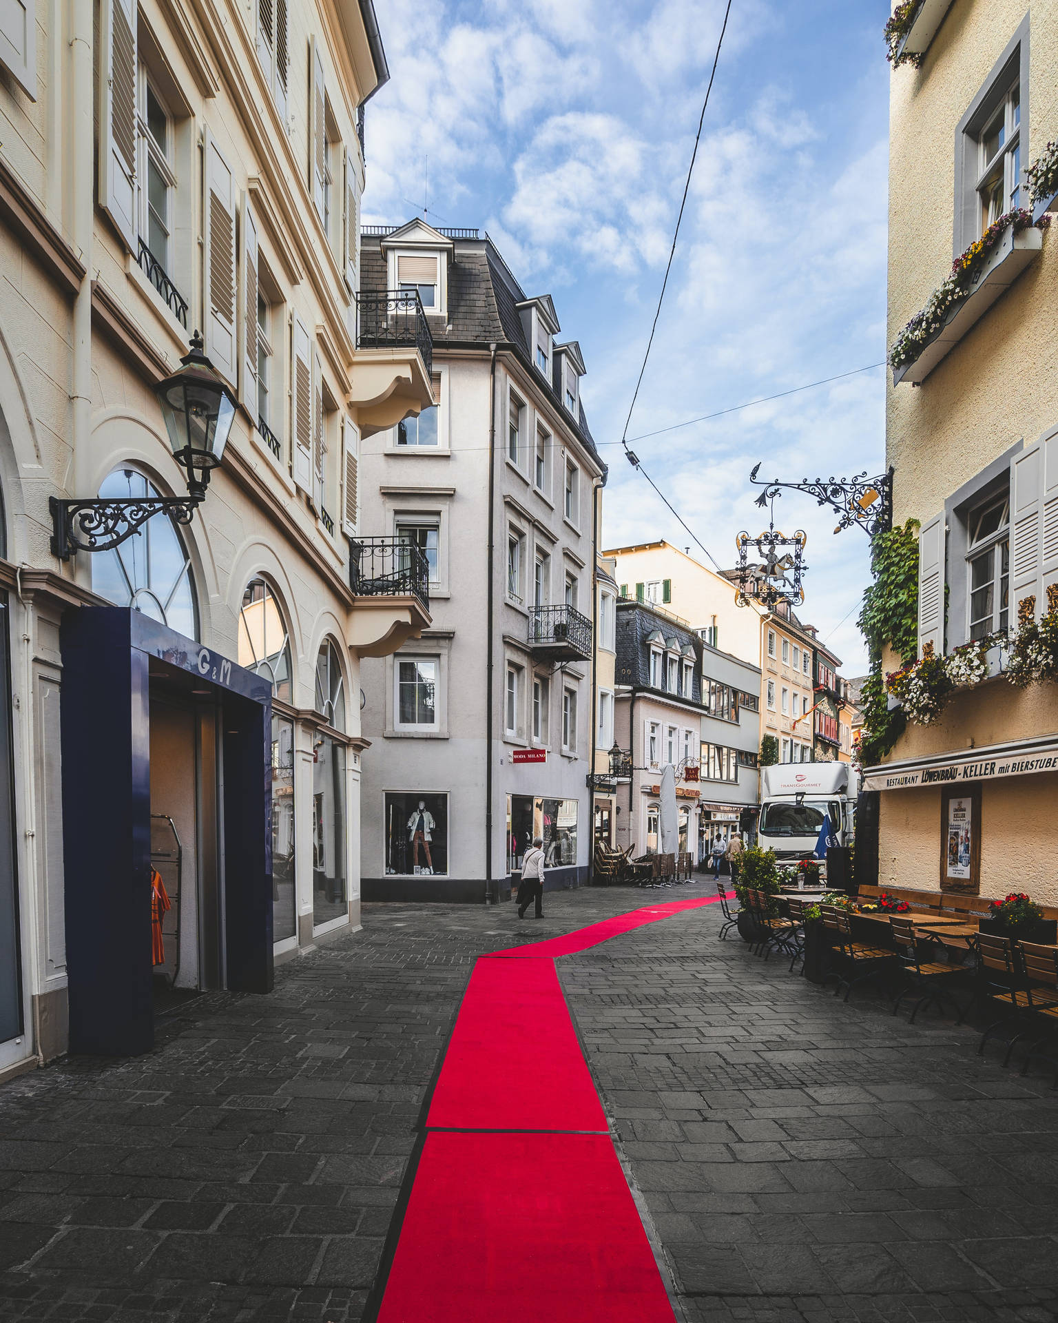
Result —
[{"label": "cream drainpipe down the left facade, ending above the lamp bracket", "polygon": [[86,266],[74,296],[73,361],[70,370],[73,462],[66,488],[89,490],[91,439],[91,258],[94,224],[94,126],[93,126],[93,0],[74,0],[70,7],[70,238]]}]

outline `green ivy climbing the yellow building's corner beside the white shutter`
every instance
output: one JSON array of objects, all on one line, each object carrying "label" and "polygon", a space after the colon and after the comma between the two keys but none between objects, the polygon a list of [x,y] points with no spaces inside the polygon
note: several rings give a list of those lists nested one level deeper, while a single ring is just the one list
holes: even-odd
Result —
[{"label": "green ivy climbing the yellow building's corner beside the white shutter", "polygon": [[879,762],[903,734],[907,718],[889,709],[882,673],[882,651],[891,647],[901,663],[918,655],[918,529],[916,519],[903,528],[879,533],[870,549],[873,582],[864,593],[858,626],[868,643],[870,671],[861,693],[864,729],[860,762]]}]

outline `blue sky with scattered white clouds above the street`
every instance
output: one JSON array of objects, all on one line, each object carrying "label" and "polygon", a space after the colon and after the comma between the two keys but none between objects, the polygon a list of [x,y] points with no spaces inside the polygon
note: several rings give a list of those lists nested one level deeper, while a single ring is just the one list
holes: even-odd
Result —
[{"label": "blue sky with scattered white clouds above the street", "polygon": [[[487,229],[579,340],[611,476],[604,540],[689,538],[623,459],[713,62],[721,0],[376,0],[391,82],[368,107],[364,220]],[[886,0],[735,0],[630,438],[885,359]],[[894,77],[901,77],[897,73]],[[879,472],[883,369],[635,443],[722,565],[760,529],[749,471]],[[764,520],[766,523],[766,520]],[[865,669],[868,540],[787,493],[801,617]],[[697,550],[697,549],[696,549]],[[700,554],[700,553],[698,553]],[[842,617],[845,618],[842,622]]]}]

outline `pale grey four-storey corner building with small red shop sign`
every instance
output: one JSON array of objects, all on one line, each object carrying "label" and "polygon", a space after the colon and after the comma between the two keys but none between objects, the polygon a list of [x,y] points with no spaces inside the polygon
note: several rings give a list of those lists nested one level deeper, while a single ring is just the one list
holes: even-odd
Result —
[{"label": "pale grey four-storey corner building with small red shop sign", "polygon": [[579,347],[476,230],[368,230],[361,269],[365,290],[418,291],[438,400],[361,454],[372,531],[427,556],[432,613],[421,639],[364,668],[362,728],[382,751],[362,783],[364,896],[507,898],[534,835],[548,886],[578,885],[606,474]]}]

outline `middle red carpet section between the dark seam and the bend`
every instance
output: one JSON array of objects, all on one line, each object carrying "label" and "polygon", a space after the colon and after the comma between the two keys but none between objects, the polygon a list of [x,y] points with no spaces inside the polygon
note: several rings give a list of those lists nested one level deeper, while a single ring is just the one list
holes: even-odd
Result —
[{"label": "middle red carpet section between the dark seam and the bend", "polygon": [[606,1134],[553,960],[475,964],[426,1125]]}]

